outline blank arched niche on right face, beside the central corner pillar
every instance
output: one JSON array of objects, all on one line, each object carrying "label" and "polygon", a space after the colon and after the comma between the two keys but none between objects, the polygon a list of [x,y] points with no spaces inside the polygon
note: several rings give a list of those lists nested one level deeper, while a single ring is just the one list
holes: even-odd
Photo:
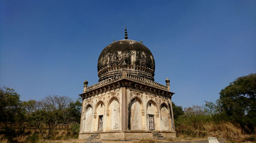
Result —
[{"label": "blank arched niche on right face, beside the central corner pillar", "polygon": [[131,130],[143,130],[143,118],[142,118],[142,101],[135,97],[131,100],[129,104],[129,120],[130,124],[128,126]]}]

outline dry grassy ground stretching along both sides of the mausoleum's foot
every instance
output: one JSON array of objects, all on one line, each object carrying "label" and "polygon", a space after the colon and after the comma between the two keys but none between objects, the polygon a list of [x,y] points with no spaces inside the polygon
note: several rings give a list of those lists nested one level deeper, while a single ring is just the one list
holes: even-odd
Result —
[{"label": "dry grassy ground stretching along both sides of the mausoleum's foot", "polygon": [[[215,123],[196,123],[195,124],[177,124],[176,127],[177,137],[167,138],[165,140],[156,140],[153,138],[145,138],[134,141],[101,141],[101,142],[114,142],[114,143],[155,143],[155,142],[168,142],[168,141],[184,141],[184,140],[200,140],[207,139],[208,137],[225,138],[226,142],[256,142],[256,134],[245,134],[241,127],[237,124],[231,124],[230,122]],[[19,136],[14,138],[19,143],[83,143],[85,140],[77,139],[75,136],[55,135],[51,139],[42,139],[38,134],[32,134],[27,136]],[[12,141],[9,141],[12,142]],[[4,136],[0,136],[0,143],[9,143]]]}]

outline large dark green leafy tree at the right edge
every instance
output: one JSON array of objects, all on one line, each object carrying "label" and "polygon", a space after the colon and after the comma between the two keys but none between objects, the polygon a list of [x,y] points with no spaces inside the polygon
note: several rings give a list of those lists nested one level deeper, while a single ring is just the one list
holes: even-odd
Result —
[{"label": "large dark green leafy tree at the right edge", "polygon": [[220,92],[220,108],[247,132],[256,127],[256,74],[242,76]]}]

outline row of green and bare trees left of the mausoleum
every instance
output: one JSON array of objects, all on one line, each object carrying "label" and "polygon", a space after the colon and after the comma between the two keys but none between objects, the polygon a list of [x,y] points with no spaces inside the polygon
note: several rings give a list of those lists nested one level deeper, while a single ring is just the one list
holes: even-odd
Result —
[{"label": "row of green and bare trees left of the mausoleum", "polygon": [[[51,137],[60,124],[76,126],[80,123],[81,102],[67,96],[47,96],[40,101],[21,102],[19,95],[10,88],[0,88],[0,134],[14,142],[16,135],[23,135],[26,127],[35,127],[46,138]],[[49,132],[45,134],[45,128]],[[16,128],[16,129],[15,129]]]}]

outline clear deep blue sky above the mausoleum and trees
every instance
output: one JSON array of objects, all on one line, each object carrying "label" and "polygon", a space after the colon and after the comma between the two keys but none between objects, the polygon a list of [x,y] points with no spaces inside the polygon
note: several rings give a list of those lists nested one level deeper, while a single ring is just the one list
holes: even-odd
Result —
[{"label": "clear deep blue sky above the mausoleum and trees", "polygon": [[143,41],[155,81],[170,79],[183,107],[215,101],[256,72],[256,1],[0,1],[0,86],[21,100],[73,99],[97,83],[97,61],[113,40]]}]

